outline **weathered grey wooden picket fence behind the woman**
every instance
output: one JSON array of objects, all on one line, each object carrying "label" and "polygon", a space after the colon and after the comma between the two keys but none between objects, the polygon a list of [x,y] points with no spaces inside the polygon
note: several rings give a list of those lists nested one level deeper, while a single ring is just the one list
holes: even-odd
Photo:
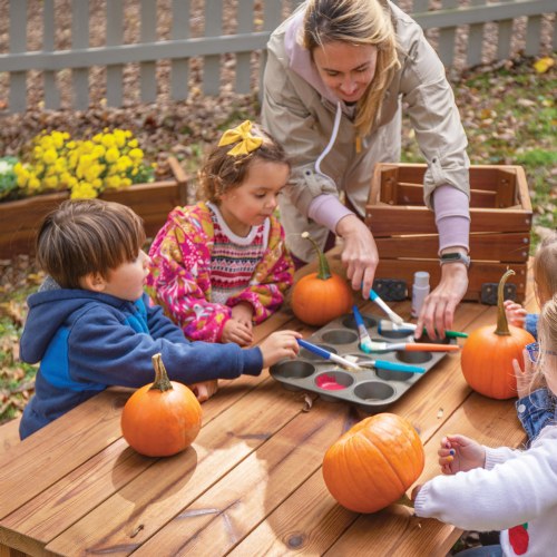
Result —
[{"label": "weathered grey wooden picket fence behind the woman", "polygon": [[[300,1],[0,0],[0,107],[25,111],[30,89],[45,108],[80,110],[256,90],[270,32]],[[556,0],[398,3],[448,68],[557,46]]]}]

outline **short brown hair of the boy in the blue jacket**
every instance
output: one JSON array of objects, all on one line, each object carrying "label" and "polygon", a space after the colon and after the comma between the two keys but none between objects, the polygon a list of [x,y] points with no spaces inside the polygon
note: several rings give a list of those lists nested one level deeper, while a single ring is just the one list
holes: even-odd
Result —
[{"label": "short brown hair of the boy in the blue jacket", "polygon": [[141,218],[129,207],[101,199],[69,199],[45,218],[37,262],[62,289],[79,289],[90,273],[135,261],[145,243]]}]

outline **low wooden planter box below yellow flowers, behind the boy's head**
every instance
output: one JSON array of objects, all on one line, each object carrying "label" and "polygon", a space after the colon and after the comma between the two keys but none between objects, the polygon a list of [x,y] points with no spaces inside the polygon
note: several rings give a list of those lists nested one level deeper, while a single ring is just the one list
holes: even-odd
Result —
[{"label": "low wooden planter box below yellow flowers, behind the boy's head", "polygon": [[[144,219],[147,237],[158,232],[175,206],[187,203],[187,177],[176,159],[169,163],[174,174],[170,180],[136,184],[100,195],[101,199],[131,207]],[[58,192],[0,203],[0,258],[33,254],[35,237],[42,219],[68,198],[68,192]]]}]

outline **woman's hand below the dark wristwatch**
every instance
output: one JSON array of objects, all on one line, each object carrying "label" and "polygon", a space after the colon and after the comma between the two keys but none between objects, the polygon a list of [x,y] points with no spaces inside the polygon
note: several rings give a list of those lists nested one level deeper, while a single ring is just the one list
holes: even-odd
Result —
[{"label": "woman's hand below the dark wristwatch", "polygon": [[452,328],[455,310],[468,290],[468,270],[463,263],[447,263],[441,266],[441,282],[426,297],[416,338],[419,339],[423,328],[430,339],[444,339],[444,331]]}]

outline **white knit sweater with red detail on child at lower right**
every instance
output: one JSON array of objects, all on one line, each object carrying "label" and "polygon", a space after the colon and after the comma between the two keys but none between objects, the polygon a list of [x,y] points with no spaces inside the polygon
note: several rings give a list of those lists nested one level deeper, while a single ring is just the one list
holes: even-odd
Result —
[{"label": "white knit sweater with red detail on child at lower right", "polygon": [[557,555],[557,426],[528,450],[486,447],[485,468],[437,476],[414,510],[466,530],[502,530],[505,555]]}]

